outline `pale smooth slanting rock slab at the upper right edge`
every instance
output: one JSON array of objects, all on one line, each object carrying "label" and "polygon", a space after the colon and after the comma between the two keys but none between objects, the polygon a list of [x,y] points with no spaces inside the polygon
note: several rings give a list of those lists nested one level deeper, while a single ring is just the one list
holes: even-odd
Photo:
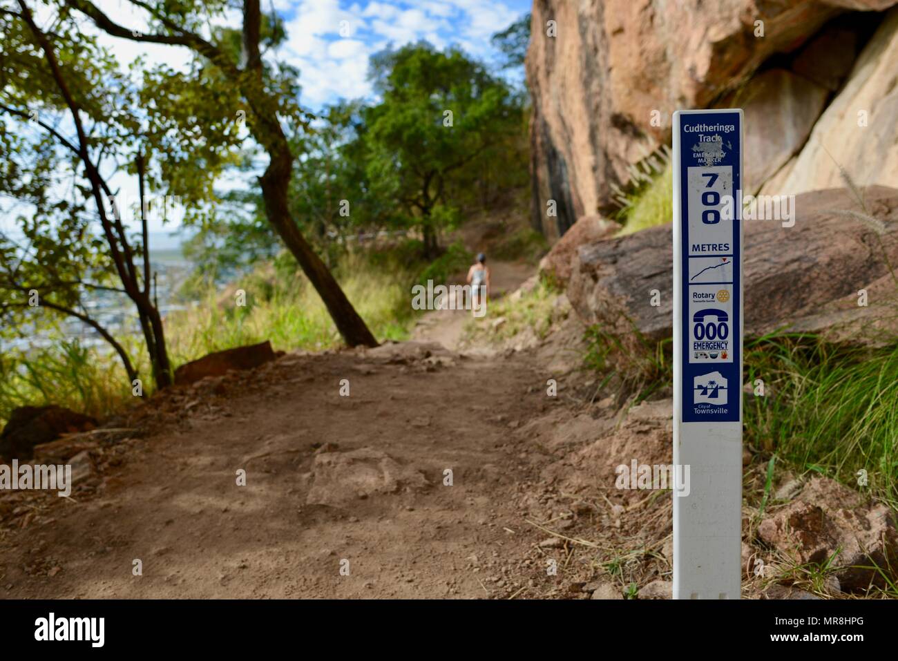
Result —
[{"label": "pale smooth slanting rock slab at the upper right edge", "polygon": [[778,190],[801,193],[844,185],[839,165],[858,186],[898,181],[898,9],[861,51],[841,93],[814,125],[795,167]]}]

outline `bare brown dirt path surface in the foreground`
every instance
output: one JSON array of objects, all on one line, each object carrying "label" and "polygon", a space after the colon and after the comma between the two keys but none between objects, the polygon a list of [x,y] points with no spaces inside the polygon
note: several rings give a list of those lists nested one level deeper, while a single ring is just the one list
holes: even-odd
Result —
[{"label": "bare brown dirt path surface in the foreground", "polygon": [[136,422],[154,434],[0,533],[0,596],[513,593],[489,574],[539,539],[515,507],[536,460],[511,431],[555,403],[542,380],[521,359],[407,343],[172,392]]}]

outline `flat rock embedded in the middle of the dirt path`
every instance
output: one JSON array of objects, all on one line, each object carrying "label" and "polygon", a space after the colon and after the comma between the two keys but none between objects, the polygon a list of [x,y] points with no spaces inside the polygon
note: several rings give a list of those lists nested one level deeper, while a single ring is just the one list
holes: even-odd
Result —
[{"label": "flat rock embedded in the middle of the dirt path", "polygon": [[359,498],[428,486],[423,473],[402,466],[379,450],[363,447],[351,452],[325,452],[314,457],[306,503],[348,507]]}]

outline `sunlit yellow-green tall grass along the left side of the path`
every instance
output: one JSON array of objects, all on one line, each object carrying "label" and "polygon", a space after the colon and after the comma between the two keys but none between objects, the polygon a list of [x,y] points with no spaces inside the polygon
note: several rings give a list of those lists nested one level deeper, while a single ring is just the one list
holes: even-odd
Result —
[{"label": "sunlit yellow-green tall grass along the left side of the path", "polygon": [[[416,312],[411,286],[427,274],[427,264],[410,257],[416,246],[402,251],[347,253],[336,277],[379,340],[406,339]],[[460,260],[447,252],[429,269],[439,277]],[[465,259],[467,259],[465,257]],[[236,292],[245,293],[245,305]],[[165,318],[165,334],[173,366],[207,353],[271,340],[276,349],[324,349],[342,345],[321,297],[292,260],[260,265],[222,293],[206,286],[189,309]],[[121,338],[152,390],[150,369],[139,338]],[[62,340],[52,348],[12,352],[0,357],[0,427],[13,409],[23,405],[58,404],[103,418],[135,402],[119,358],[105,345],[87,348]]]}]

